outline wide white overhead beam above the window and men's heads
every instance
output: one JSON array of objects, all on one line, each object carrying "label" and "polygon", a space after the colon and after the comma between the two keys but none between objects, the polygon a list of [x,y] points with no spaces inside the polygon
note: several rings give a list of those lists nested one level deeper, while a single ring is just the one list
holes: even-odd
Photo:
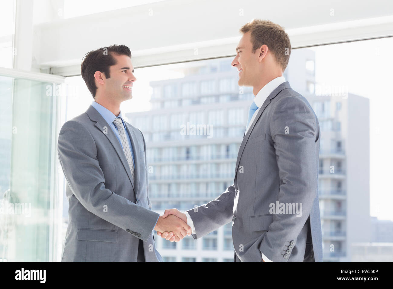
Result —
[{"label": "wide white overhead beam above the window and men's heads", "polygon": [[283,26],[292,47],[393,35],[393,1],[167,0],[37,24],[33,66],[80,68],[86,52],[111,44],[129,46],[134,66],[231,55],[252,18]]}]

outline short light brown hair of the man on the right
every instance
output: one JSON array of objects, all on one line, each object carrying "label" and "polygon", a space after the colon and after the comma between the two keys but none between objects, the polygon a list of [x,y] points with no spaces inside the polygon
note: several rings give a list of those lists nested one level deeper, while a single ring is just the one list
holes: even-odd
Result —
[{"label": "short light brown hair of the man on the right", "polygon": [[251,33],[252,53],[266,44],[284,71],[291,54],[291,42],[284,28],[270,20],[253,19],[240,28],[243,34],[248,31]]}]

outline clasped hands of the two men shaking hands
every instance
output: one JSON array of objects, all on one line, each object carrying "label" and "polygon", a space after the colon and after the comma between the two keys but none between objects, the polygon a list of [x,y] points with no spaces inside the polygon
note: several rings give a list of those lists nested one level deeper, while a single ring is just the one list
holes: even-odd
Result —
[{"label": "clasped hands of the two men shaking hands", "polygon": [[187,225],[187,217],[177,209],[165,210],[164,214],[158,217],[154,230],[157,235],[168,241],[178,242],[185,236],[191,235],[191,227]]}]

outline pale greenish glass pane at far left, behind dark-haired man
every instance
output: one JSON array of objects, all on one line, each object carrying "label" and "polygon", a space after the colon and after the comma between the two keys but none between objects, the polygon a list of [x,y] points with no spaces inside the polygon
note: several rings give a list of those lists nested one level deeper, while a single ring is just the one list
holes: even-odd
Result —
[{"label": "pale greenish glass pane at far left, behind dark-haired man", "polygon": [[0,259],[55,261],[55,83],[0,77]]}]

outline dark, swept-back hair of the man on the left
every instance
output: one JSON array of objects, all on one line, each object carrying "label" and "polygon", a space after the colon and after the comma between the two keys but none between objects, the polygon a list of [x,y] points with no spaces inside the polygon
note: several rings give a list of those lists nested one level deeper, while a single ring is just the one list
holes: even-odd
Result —
[{"label": "dark, swept-back hair of the man on the left", "polygon": [[128,46],[114,44],[108,47],[101,47],[97,50],[92,50],[86,53],[82,59],[82,78],[94,99],[95,92],[97,90],[94,74],[96,71],[99,71],[103,72],[105,77],[110,78],[109,66],[116,64],[116,59],[113,57],[112,53],[115,55],[127,55],[131,58],[131,51]]}]

